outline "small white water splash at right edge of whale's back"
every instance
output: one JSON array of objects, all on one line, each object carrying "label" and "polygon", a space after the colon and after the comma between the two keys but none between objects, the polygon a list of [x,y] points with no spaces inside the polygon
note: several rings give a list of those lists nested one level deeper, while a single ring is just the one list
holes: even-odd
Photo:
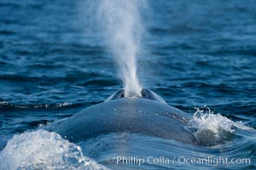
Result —
[{"label": "small white water splash at right edge of whale's back", "polygon": [[232,138],[235,127],[247,130],[251,127],[242,122],[233,122],[225,116],[214,114],[207,106],[195,108],[193,119],[188,127],[195,130],[195,138],[202,145],[222,144]]}]

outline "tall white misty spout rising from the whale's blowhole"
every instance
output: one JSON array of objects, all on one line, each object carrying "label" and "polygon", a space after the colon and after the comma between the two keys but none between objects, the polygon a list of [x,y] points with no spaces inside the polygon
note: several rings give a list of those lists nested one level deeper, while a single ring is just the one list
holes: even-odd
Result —
[{"label": "tall white misty spout rising from the whale's blowhole", "polygon": [[124,83],[125,97],[141,96],[141,85],[137,77],[137,54],[144,32],[142,11],[146,6],[140,0],[100,0],[97,21],[113,56],[119,64]]}]

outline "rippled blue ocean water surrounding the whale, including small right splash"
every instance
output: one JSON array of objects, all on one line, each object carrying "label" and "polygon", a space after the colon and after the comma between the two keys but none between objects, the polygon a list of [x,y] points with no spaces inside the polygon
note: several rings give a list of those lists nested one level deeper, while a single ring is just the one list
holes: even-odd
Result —
[{"label": "rippled blue ocean water surrounding the whale, including small right splash", "polygon": [[[1,0],[0,169],[256,169],[255,1],[147,6],[138,77],[193,117],[188,128],[203,144],[130,133],[73,144],[40,129],[122,88],[119,68],[101,33],[89,29],[88,3]],[[170,162],[117,164],[120,149]],[[215,161],[191,163],[208,157]]]}]

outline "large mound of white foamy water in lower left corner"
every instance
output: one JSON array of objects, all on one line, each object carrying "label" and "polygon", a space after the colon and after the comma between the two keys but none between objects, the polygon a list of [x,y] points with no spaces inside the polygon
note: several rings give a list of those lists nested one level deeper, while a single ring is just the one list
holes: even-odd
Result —
[{"label": "large mound of white foamy water in lower left corner", "polygon": [[42,129],[15,135],[0,152],[0,169],[108,169],[57,133]]}]

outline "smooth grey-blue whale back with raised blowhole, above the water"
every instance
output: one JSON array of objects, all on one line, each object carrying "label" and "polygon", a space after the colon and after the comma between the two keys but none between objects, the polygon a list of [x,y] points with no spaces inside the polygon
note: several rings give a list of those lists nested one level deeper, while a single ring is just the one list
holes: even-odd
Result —
[{"label": "smooth grey-blue whale back with raised blowhole, above the water", "polygon": [[121,89],[105,102],[51,123],[46,129],[73,142],[108,133],[137,133],[196,144],[194,135],[186,128],[189,118],[147,88],[143,88],[141,97],[124,97]]}]

